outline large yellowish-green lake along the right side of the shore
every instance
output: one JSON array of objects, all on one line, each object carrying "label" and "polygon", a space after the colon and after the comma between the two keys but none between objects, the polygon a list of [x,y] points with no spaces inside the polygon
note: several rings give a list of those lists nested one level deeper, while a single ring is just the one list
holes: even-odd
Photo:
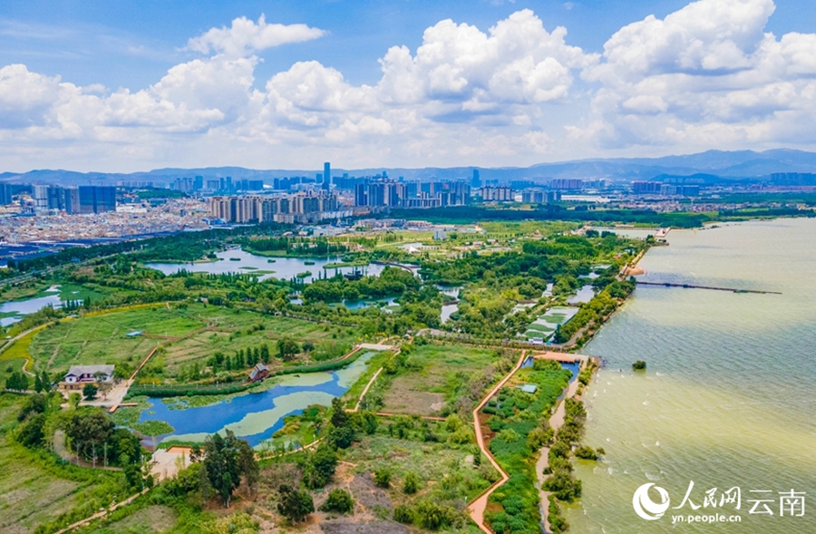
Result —
[{"label": "large yellowish-green lake along the right side of the shore", "polygon": [[[606,360],[588,391],[586,436],[606,457],[577,466],[571,531],[816,532],[816,220],[673,231],[668,241],[646,254],[642,279],[782,295],[636,289],[583,351]],[[631,371],[636,360],[645,374]],[[663,517],[636,514],[647,483],[668,496]]]}]

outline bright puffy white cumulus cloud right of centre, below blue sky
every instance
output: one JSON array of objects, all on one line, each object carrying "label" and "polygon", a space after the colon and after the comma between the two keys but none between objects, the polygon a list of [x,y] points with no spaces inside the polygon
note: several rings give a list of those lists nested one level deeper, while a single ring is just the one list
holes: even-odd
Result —
[{"label": "bright puffy white cumulus cloud right of centre, below blue sky", "polygon": [[572,71],[597,60],[566,44],[566,35],[563,27],[547,32],[529,9],[487,34],[444,20],[425,30],[414,56],[404,46],[385,53],[380,96],[398,104],[433,101],[448,112],[559,101],[568,95]]}]

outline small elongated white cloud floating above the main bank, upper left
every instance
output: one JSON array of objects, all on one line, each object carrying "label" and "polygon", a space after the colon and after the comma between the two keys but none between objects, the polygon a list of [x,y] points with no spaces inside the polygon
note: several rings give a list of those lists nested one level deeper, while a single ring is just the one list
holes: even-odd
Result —
[{"label": "small elongated white cloud floating above the main bank, upper left", "polygon": [[325,31],[306,24],[267,24],[265,15],[257,23],[242,16],[230,27],[211,28],[187,43],[189,50],[200,53],[224,53],[230,57],[244,56],[288,43],[302,43],[325,35]]}]

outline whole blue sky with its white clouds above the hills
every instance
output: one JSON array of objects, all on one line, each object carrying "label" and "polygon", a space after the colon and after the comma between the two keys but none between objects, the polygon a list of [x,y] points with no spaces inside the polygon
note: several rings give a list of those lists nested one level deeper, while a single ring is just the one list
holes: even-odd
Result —
[{"label": "whole blue sky with its white clouds above the hills", "polygon": [[812,149],[814,22],[810,0],[6,0],[0,170]]}]

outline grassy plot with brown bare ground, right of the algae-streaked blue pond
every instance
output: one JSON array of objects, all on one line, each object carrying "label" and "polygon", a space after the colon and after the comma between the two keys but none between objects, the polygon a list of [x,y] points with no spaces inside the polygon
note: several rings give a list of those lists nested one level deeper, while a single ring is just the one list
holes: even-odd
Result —
[{"label": "grassy plot with brown bare ground, right of the algae-streaked blue pond", "polygon": [[409,366],[393,377],[384,394],[384,412],[439,415],[456,401],[461,386],[483,375],[496,360],[494,350],[460,345],[422,345],[409,356]]}]

